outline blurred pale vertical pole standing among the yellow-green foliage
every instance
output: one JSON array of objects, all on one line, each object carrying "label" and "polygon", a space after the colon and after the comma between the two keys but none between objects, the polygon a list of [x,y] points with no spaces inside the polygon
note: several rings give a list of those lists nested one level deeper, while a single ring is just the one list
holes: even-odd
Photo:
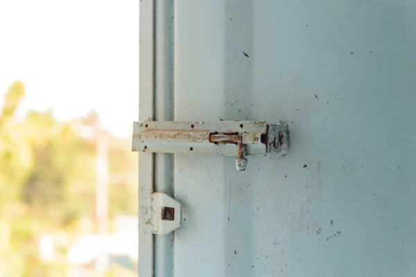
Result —
[{"label": "blurred pale vertical pole standing among the yellow-green foliage", "polygon": [[108,256],[105,249],[105,238],[108,232],[108,138],[101,123],[96,132],[96,224],[100,241],[96,269],[104,274],[108,269]]}]

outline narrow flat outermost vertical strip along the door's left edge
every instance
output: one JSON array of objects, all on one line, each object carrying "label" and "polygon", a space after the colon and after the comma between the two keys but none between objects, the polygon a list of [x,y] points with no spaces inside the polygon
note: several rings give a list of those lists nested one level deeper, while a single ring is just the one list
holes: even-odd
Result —
[{"label": "narrow flat outermost vertical strip along the door's left edge", "polygon": [[[155,2],[139,6],[139,120],[154,118],[155,89]],[[154,276],[154,235],[150,222],[155,154],[139,154],[139,276]]]}]

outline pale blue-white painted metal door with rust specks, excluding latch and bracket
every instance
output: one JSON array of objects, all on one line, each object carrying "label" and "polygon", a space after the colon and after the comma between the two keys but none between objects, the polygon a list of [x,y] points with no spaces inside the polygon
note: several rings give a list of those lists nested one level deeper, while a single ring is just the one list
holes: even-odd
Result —
[{"label": "pale blue-white painted metal door with rust specks, excluding latch and bracket", "polygon": [[[416,276],[415,1],[140,9],[140,121],[285,120],[292,148],[139,154],[139,277]],[[168,235],[154,191],[186,206]]]}]

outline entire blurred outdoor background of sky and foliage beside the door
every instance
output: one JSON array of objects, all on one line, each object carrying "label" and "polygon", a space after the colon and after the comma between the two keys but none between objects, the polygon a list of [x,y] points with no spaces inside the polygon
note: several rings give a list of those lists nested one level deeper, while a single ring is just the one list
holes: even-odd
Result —
[{"label": "entire blurred outdoor background of sky and foliage beside the door", "polygon": [[0,277],[136,276],[139,1],[0,1]]}]

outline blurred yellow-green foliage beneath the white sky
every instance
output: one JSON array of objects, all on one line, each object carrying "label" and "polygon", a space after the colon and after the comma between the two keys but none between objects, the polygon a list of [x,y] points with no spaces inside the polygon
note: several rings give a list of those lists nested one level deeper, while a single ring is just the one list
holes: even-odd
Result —
[{"label": "blurred yellow-green foliage beneath the white sky", "polygon": [[[0,276],[62,276],[64,261],[46,265],[37,243],[94,219],[96,143],[79,130],[97,116],[62,123],[50,111],[30,111],[18,120],[24,94],[22,82],[11,84],[0,111]],[[108,136],[110,173],[135,172],[128,143]],[[110,184],[110,214],[137,213],[137,190],[120,183]]]}]

